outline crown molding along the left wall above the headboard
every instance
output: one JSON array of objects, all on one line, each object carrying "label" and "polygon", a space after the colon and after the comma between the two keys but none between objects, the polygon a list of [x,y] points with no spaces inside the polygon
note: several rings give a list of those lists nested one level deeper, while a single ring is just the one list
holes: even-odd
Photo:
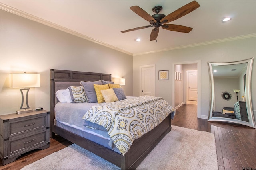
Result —
[{"label": "crown molding along the left wall above the headboard", "polygon": [[49,26],[49,27],[58,29],[58,30],[60,30],[60,31],[64,31],[64,32],[66,32],[66,33],[70,33],[70,34],[75,35],[75,36],[77,36],[77,37],[80,37],[80,38],[82,38],[82,39],[86,39],[86,40],[91,41],[91,42],[93,42],[93,43],[96,43],[96,44],[103,45],[103,46],[105,46],[105,47],[114,49],[114,50],[116,50],[116,51],[120,51],[120,52],[126,53],[126,54],[128,54],[128,55],[133,55],[132,53],[130,53],[130,52],[128,52],[128,51],[119,49],[119,48],[117,48],[117,47],[114,47],[114,46],[109,45],[109,44],[107,44],[107,43],[104,43],[104,42],[102,42],[102,41],[98,41],[98,40],[96,40],[96,39],[93,39],[93,38],[91,38],[91,37],[88,37],[88,36],[86,36],[86,35],[83,35],[83,34],[81,34],[81,33],[78,33],[78,32],[76,32],[76,31],[72,31],[71,29],[62,27],[62,26],[57,25],[57,24],[55,24],[55,23],[52,23],[52,22],[50,22],[50,21],[46,21],[46,20],[44,20],[44,19],[42,19],[42,18],[33,16],[33,15],[31,15],[31,14],[28,14],[28,13],[23,12],[23,11],[21,11],[21,10],[18,10],[18,9],[16,9],[16,8],[12,8],[12,7],[10,7],[10,6],[6,5],[6,4],[3,4],[3,3],[1,3],[1,2],[0,2],[0,9],[1,9],[1,10],[5,10],[5,11],[7,11],[7,12],[10,12],[10,13],[12,13],[12,14],[15,14],[15,15],[18,15],[18,16],[21,16],[21,17],[24,17],[24,18],[27,18],[27,19],[29,19],[29,20],[42,23],[42,24],[44,24],[44,25],[47,25],[47,26]]}]

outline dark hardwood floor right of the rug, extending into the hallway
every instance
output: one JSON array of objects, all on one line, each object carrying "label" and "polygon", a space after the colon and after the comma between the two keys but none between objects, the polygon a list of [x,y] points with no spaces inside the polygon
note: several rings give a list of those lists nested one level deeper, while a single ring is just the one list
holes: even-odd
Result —
[{"label": "dark hardwood floor right of the rug, extending into the hallway", "polygon": [[213,133],[219,170],[256,169],[256,129],[199,119],[197,105],[192,104],[184,104],[176,110],[172,125]]}]

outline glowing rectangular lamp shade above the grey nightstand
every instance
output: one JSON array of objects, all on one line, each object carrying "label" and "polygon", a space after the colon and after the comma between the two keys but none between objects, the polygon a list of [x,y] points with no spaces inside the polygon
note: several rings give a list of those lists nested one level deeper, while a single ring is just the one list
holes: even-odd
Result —
[{"label": "glowing rectangular lamp shade above the grey nightstand", "polygon": [[40,87],[40,74],[16,74],[10,76],[10,88]]}]

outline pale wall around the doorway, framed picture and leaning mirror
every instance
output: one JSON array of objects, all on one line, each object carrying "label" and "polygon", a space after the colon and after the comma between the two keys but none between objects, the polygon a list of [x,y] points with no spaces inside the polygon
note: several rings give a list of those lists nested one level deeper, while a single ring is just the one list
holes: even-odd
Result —
[{"label": "pale wall around the doorway, framed picture and leaning mirror", "polygon": [[[202,45],[197,47],[190,47],[184,49],[176,49],[171,51],[163,51],[145,55],[138,55],[133,57],[133,94],[139,94],[139,66],[156,64],[156,73],[158,70],[169,70],[168,81],[156,80],[156,96],[162,96],[170,104],[172,104],[172,78],[174,73],[173,63],[183,63],[186,61],[201,62],[201,116],[208,117],[210,105],[210,78],[207,62],[231,62],[250,59],[256,57],[256,37],[247,39],[238,39],[234,41],[227,41],[209,45]],[[157,74],[156,74],[157,75]],[[254,117],[256,117],[256,64],[252,68],[252,109],[254,110]]]}]

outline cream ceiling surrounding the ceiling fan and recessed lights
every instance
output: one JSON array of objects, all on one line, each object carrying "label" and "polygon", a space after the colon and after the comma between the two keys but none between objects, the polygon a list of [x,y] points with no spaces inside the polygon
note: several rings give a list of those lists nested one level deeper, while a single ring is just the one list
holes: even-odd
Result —
[{"label": "cream ceiling surrounding the ceiling fan and recessed lights", "polygon": [[[163,7],[168,15],[190,0],[1,0],[1,9],[73,33],[90,41],[128,53],[140,55],[208,43],[256,37],[255,0],[197,0],[200,7],[170,22],[192,27],[190,33],[160,28],[157,41],[150,41],[153,27],[121,33],[127,29],[150,25],[132,10],[140,6],[148,14]],[[24,13],[25,12],[25,13]],[[223,23],[224,17],[231,17]],[[136,39],[141,41],[137,42]]]}]

